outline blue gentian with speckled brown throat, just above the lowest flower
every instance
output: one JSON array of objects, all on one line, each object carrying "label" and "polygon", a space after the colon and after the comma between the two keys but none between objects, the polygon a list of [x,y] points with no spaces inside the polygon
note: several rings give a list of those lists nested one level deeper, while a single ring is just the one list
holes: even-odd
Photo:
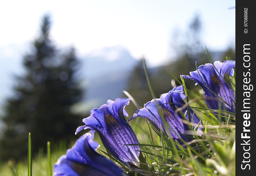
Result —
[{"label": "blue gentian with speckled brown throat, just above the lowest flower", "polygon": [[131,126],[125,120],[128,116],[124,107],[129,104],[128,98],[108,100],[99,109],[92,109],[91,116],[83,119],[84,126],[77,128],[76,134],[83,129],[91,129],[91,133],[97,131],[107,151],[117,160],[128,165],[132,163],[138,166],[139,150],[137,137]]}]

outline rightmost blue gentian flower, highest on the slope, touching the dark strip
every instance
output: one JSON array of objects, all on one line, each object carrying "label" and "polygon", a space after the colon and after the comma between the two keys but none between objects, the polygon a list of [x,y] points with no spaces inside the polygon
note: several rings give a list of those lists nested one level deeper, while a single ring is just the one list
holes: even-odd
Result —
[{"label": "rightmost blue gentian flower, highest on the slope, touching the dark strip", "polygon": [[[233,113],[235,112],[235,95],[227,77],[234,75],[233,68],[235,67],[235,61],[226,60],[223,63],[215,61],[214,66],[210,63],[201,65],[198,67],[198,71],[190,72],[190,76],[182,75],[182,77],[192,79],[196,84],[199,84],[202,87],[205,102],[210,109],[219,109],[219,102],[221,102],[222,110],[227,110]],[[215,94],[217,94],[227,104],[212,92],[215,92]]]}]

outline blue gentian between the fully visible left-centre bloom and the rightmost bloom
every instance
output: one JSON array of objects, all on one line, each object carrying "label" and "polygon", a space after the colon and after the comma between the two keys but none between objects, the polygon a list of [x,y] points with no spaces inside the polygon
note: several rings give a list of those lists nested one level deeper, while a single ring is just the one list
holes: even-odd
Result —
[{"label": "blue gentian between the fully visible left-centre bloom and the rightmost bloom", "polygon": [[[171,137],[177,139],[179,143],[183,143],[181,138],[187,142],[191,141],[191,138],[184,136],[185,131],[189,130],[189,127],[187,124],[182,123],[181,119],[183,118],[175,113],[176,107],[173,104],[173,96],[176,93],[183,93],[183,90],[178,90],[176,87],[174,87],[168,93],[162,94],[160,98],[152,99],[144,104],[142,109],[137,110],[128,121],[137,117],[143,117],[159,130],[162,131],[164,128],[165,132],[167,132],[168,135],[170,133]],[[177,94],[175,95],[176,98]],[[164,126],[164,122],[158,110],[162,112],[164,120],[169,124],[168,127]],[[166,128],[168,128],[169,132]]]}]

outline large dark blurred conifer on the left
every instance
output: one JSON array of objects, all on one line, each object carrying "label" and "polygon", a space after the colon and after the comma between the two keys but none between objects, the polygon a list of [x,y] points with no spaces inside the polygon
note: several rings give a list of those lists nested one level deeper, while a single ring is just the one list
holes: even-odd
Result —
[{"label": "large dark blurred conifer on the left", "polygon": [[57,50],[49,37],[50,27],[46,15],[31,54],[24,56],[26,73],[16,76],[15,94],[6,101],[2,121],[7,130],[0,141],[2,160],[27,155],[29,132],[34,152],[46,148],[47,141],[68,142],[82,119],[70,111],[82,96],[75,77],[79,66],[75,50]]}]

